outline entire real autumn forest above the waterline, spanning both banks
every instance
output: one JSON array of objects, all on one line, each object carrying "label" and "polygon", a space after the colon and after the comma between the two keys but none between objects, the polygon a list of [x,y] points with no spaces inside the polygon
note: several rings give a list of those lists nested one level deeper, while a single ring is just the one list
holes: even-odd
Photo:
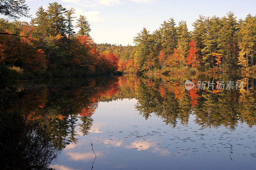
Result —
[{"label": "entire real autumn forest above the waterline, spanning both banks", "polygon": [[136,46],[117,46],[94,43],[86,16],[74,13],[54,2],[38,8],[30,23],[1,19],[1,77],[255,72],[256,17],[250,14],[239,20],[232,12],[200,15],[190,32],[186,21],[170,18],[151,34],[143,28]]}]

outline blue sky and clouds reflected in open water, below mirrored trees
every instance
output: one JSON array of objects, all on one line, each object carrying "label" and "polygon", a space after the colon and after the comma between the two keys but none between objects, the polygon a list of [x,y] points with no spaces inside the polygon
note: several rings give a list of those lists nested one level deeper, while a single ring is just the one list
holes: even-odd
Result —
[{"label": "blue sky and clouds reflected in open water, below mirrored trees", "polygon": [[[163,118],[145,118],[135,98],[99,102],[89,134],[62,151],[60,169],[253,169],[256,165],[255,127],[237,123],[235,130],[202,128],[191,114],[186,125],[172,128]],[[139,104],[140,105],[140,104]],[[80,120],[77,124],[81,123]],[[232,149],[231,149],[232,146]],[[231,150],[230,150],[231,149]]]}]

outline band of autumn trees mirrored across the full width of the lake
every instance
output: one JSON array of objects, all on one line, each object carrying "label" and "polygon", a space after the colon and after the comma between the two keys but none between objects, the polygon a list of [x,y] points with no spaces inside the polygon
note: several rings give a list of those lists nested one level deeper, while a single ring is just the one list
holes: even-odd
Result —
[{"label": "band of autumn trees mirrored across the full width of the lake", "polygon": [[[152,114],[166,125],[175,128],[180,122],[188,125],[191,115],[201,128],[224,126],[234,131],[239,122],[250,128],[256,125],[256,90],[253,78],[240,78],[244,89],[207,90],[185,89],[185,81],[236,81],[234,77],[152,76],[103,77],[57,82],[51,80],[31,85],[20,85],[16,91],[1,92],[1,110],[36,121],[50,134],[52,144],[62,150],[70,142],[77,143],[78,131],[88,135],[92,115],[98,103],[116,99],[136,98],[136,110],[145,120]],[[3,97],[4,96],[4,97]],[[10,126],[14,126],[10,124]],[[78,130],[79,129],[79,130]]]}]

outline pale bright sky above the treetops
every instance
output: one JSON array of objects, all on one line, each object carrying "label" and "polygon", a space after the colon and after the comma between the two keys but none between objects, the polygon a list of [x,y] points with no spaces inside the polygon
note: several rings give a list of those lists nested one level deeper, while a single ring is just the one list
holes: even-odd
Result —
[{"label": "pale bright sky above the treetops", "polygon": [[[73,7],[76,16],[85,15],[92,31],[90,35],[96,43],[134,45],[133,37],[145,27],[150,32],[158,29],[164,20],[173,17],[176,24],[185,20],[188,30],[198,15],[225,16],[232,11],[237,19],[244,19],[248,13],[256,14],[253,0],[27,0],[32,17],[36,10],[48,3],[58,2],[65,8]],[[21,18],[24,21],[30,19]]]}]

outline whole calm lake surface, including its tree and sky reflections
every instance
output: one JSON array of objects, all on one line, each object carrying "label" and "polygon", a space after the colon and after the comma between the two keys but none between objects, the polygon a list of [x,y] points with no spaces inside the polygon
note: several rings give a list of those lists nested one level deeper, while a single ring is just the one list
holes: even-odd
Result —
[{"label": "whole calm lake surface, including its tree and sky reflections", "polygon": [[[244,86],[188,91],[186,80]],[[205,75],[26,81],[5,108],[46,125],[61,151],[56,169],[255,169],[254,83]]]}]

